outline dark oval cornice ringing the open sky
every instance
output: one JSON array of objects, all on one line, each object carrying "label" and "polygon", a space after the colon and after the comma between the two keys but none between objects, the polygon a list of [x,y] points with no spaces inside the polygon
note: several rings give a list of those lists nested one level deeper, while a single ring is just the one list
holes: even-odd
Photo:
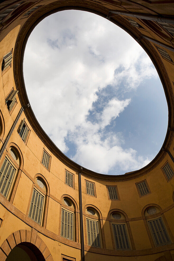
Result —
[{"label": "dark oval cornice ringing the open sky", "polygon": [[[80,9],[80,10],[90,11],[92,13],[101,15],[105,18],[109,11],[109,9],[104,7],[102,5],[102,2],[99,1],[91,2],[91,1],[80,1],[80,0],[73,0],[73,1],[62,0],[62,1],[57,1],[48,4],[47,6],[43,5],[43,7],[39,8],[39,12],[35,12],[32,16],[30,16],[26,20],[25,24],[21,27],[20,32],[18,34],[18,38],[16,40],[16,45],[14,48],[14,56],[13,56],[14,79],[16,83],[16,89],[19,90],[19,99],[21,105],[25,105],[29,103],[27,93],[26,93],[25,83],[24,83],[24,76],[23,76],[23,57],[24,57],[24,51],[25,51],[25,45],[27,39],[30,33],[32,32],[32,30],[34,29],[34,27],[46,16],[55,13],[56,11],[61,11],[66,9],[78,9],[78,10]],[[141,33],[136,28],[131,27],[130,23],[128,23],[127,20],[124,19],[123,17],[115,16],[114,18],[111,19],[111,21],[116,25],[120,26],[122,29],[124,29],[134,39],[137,39],[138,37],[141,36]],[[164,67],[163,62],[161,61],[161,58],[159,57],[157,51],[153,48],[153,45],[146,39],[142,39],[140,45],[150,56],[159,74],[161,82],[163,84],[166,99],[167,99],[167,104],[169,108],[168,126],[172,128],[173,117],[171,117],[171,115],[173,115],[172,112],[173,112],[174,98],[173,98],[173,92],[172,92],[169,76],[167,75],[166,69]],[[44,130],[38,123],[31,106],[25,110],[25,115],[27,117],[27,120],[31,124],[33,130],[35,131],[35,133],[43,141],[43,143],[51,151],[51,153],[53,153],[53,155],[55,155],[62,163],[67,165],[69,168],[79,172],[81,166],[73,162],[71,159],[69,159],[56,147],[56,145],[53,143],[53,141],[51,141],[51,139],[48,137],[48,135],[44,132]],[[169,149],[173,139],[173,135],[174,133],[172,131],[167,130],[163,147]],[[127,181],[143,176],[144,174],[147,174],[164,159],[165,155],[166,152],[161,149],[159,153],[156,155],[156,157],[146,167],[140,170],[132,171],[131,173],[126,173],[124,175],[104,175],[88,170],[86,168],[83,168],[82,174],[93,179],[105,180],[108,182]]]}]

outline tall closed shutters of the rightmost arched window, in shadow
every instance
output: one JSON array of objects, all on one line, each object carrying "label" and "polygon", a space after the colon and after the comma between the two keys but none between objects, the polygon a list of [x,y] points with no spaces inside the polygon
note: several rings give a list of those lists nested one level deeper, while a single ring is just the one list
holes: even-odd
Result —
[{"label": "tall closed shutters of the rightmost arched window, in shadow", "polygon": [[148,221],[156,246],[171,244],[161,217]]}]

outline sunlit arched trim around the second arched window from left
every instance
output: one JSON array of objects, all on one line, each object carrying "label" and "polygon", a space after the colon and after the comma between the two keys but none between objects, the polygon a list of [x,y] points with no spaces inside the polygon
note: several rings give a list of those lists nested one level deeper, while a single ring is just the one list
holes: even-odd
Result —
[{"label": "sunlit arched trim around the second arched window from left", "polygon": [[[41,187],[39,187],[39,185],[37,184],[37,181],[36,181],[37,178],[41,178],[44,181],[46,191],[44,189],[42,189]],[[50,190],[49,190],[48,182],[44,178],[43,175],[38,173],[38,174],[36,174],[34,176],[33,184],[32,184],[32,187],[31,187],[30,198],[28,200],[28,207],[27,207],[27,212],[26,212],[26,216],[27,217],[28,217],[28,213],[29,213],[29,210],[30,210],[30,204],[31,204],[31,199],[32,199],[32,195],[33,195],[33,188],[35,188],[38,192],[41,192],[44,195],[44,205],[43,205],[43,211],[42,211],[42,221],[41,221],[40,226],[42,226],[43,228],[46,228],[47,214],[48,214],[48,201],[49,201],[49,196],[50,196]]]}]

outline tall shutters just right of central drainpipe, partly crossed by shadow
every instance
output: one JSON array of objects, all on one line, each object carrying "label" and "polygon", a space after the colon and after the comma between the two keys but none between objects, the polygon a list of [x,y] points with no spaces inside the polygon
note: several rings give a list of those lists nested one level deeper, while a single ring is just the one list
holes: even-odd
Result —
[{"label": "tall shutters just right of central drainpipe, partly crossed by shadow", "polygon": [[98,221],[86,219],[86,223],[87,223],[88,245],[101,247]]}]

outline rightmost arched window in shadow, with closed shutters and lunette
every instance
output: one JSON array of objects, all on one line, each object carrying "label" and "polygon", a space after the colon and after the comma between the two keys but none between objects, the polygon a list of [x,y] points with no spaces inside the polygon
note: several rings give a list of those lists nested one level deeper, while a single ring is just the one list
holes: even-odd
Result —
[{"label": "rightmost arched window in shadow, with closed shutters and lunette", "polygon": [[170,236],[164,222],[164,214],[162,217],[160,209],[155,205],[148,206],[144,211],[144,216],[154,245],[163,246],[171,244]]}]

